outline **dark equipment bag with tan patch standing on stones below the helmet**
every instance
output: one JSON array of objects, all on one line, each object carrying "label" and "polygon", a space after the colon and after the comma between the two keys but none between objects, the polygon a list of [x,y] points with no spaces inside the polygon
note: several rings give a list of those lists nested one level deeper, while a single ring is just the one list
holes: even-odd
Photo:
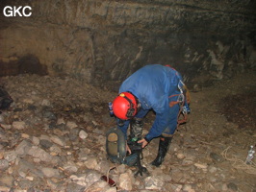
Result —
[{"label": "dark equipment bag with tan patch standing on stones below the helmet", "polygon": [[138,153],[127,155],[124,133],[118,128],[112,128],[106,133],[107,158],[114,163],[134,166],[137,163]]}]

